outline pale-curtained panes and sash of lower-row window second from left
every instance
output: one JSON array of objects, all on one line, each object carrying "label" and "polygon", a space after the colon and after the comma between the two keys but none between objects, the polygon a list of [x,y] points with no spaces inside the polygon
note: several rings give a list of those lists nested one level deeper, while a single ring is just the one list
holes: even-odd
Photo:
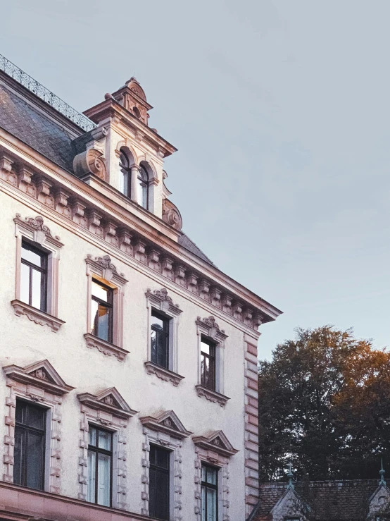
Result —
[{"label": "pale-curtained panes and sash of lower-row window second from left", "polygon": [[87,501],[111,506],[113,434],[89,425]]}]

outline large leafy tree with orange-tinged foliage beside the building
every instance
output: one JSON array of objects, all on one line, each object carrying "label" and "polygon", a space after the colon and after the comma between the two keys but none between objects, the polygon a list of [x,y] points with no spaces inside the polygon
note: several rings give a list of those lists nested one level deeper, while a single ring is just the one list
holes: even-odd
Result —
[{"label": "large leafy tree with orange-tinged foliage beside the building", "polygon": [[296,329],[259,364],[260,477],[377,477],[390,462],[390,355],[351,329]]}]

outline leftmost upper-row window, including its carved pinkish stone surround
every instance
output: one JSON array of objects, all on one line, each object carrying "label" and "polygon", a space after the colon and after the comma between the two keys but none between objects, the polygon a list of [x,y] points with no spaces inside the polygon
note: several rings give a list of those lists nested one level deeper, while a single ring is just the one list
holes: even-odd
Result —
[{"label": "leftmost upper-row window, including its carved pinkish stone surround", "polygon": [[16,214],[16,284],[11,302],[16,315],[25,314],[37,324],[56,332],[58,319],[58,262],[63,247],[41,216],[22,219]]}]

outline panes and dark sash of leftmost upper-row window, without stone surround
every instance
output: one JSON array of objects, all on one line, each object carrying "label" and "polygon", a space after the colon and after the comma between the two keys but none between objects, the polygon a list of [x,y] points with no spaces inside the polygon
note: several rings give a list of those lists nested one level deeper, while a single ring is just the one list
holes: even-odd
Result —
[{"label": "panes and dark sash of leftmost upper-row window, without stone surround", "polygon": [[46,312],[47,254],[22,241],[20,300]]}]

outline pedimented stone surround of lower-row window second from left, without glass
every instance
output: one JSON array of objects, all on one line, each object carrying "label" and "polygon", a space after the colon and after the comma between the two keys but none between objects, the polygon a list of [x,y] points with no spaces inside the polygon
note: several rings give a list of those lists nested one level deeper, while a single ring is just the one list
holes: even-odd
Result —
[{"label": "pedimented stone surround of lower-row window second from left, without glass", "polygon": [[[115,387],[108,388],[97,396],[91,393],[82,393],[77,395],[77,398],[80,402],[82,415],[80,422],[78,497],[87,501],[89,425],[103,426],[104,429],[113,434],[112,507],[127,510],[127,437],[125,429],[128,420],[138,411],[132,410],[127,405]],[[113,400],[118,405],[113,405]]]}]

